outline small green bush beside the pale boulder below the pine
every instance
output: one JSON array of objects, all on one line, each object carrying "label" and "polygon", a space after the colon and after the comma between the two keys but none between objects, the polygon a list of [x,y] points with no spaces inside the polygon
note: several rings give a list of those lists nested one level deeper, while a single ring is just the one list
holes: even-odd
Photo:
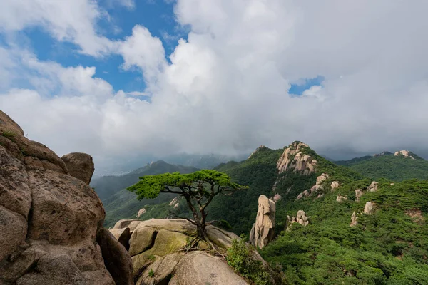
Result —
[{"label": "small green bush beside the pale boulder below the pine", "polygon": [[269,274],[260,260],[254,259],[254,247],[244,239],[233,239],[232,247],[228,249],[226,260],[229,266],[256,285],[269,284]]}]

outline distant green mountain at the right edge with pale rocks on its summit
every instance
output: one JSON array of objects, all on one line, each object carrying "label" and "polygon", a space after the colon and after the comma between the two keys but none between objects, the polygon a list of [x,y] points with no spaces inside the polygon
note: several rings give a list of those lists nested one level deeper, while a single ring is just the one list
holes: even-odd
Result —
[{"label": "distant green mountain at the right edge with pale rocks on its summit", "polygon": [[428,161],[407,150],[381,152],[378,155],[335,161],[335,164],[350,167],[374,180],[382,177],[394,181],[412,178],[428,180]]}]

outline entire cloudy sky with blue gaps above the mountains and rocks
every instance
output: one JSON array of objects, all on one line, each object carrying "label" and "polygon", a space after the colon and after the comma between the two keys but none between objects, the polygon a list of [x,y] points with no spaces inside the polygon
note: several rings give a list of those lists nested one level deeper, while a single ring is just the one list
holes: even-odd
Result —
[{"label": "entire cloudy sky with blue gaps above the mountains and rocks", "polygon": [[428,157],[428,1],[3,0],[0,109],[58,155]]}]

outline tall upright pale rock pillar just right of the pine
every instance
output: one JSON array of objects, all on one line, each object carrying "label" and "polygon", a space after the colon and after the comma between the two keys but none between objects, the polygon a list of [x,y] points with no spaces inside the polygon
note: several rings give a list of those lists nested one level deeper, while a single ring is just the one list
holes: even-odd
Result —
[{"label": "tall upright pale rock pillar just right of the pine", "polygon": [[265,195],[258,199],[258,212],[250,232],[250,243],[263,249],[275,235],[275,202]]}]

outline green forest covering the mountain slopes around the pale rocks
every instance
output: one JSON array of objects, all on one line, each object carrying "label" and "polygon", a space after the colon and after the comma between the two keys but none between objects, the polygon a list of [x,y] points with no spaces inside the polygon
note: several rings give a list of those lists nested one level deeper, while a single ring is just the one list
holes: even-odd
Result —
[{"label": "green forest covering the mountain slopes around the pale rocks", "polygon": [[[382,155],[333,163],[303,147],[302,152],[317,160],[316,172],[304,175],[288,170],[278,174],[277,161],[284,150],[260,147],[247,160],[215,167],[249,188],[215,197],[208,207],[208,219],[225,220],[235,234],[248,237],[258,211],[258,197],[280,194],[275,217],[277,237],[258,250],[272,269],[282,272],[285,284],[428,284],[428,181],[420,176],[427,161]],[[417,165],[422,171],[412,172]],[[177,167],[169,167],[170,172]],[[360,167],[365,171],[358,171]],[[141,175],[156,174],[153,165],[149,169]],[[310,195],[297,200],[322,173],[329,175],[317,192],[322,197]],[[373,180],[378,182],[377,191],[369,192],[367,187]],[[332,190],[333,181],[340,187]],[[357,189],[364,192],[358,202]],[[338,196],[345,199],[337,202]],[[141,219],[173,217],[171,211],[190,217],[180,199],[170,204],[173,198],[161,194],[138,202],[132,192],[121,190],[107,200],[107,224],[113,225],[118,218],[135,218],[141,207],[146,209]],[[366,202],[373,204],[370,214],[363,213]],[[309,217],[306,227],[287,225],[287,216],[295,216],[298,210]],[[354,212],[357,224],[351,227]]]}]

